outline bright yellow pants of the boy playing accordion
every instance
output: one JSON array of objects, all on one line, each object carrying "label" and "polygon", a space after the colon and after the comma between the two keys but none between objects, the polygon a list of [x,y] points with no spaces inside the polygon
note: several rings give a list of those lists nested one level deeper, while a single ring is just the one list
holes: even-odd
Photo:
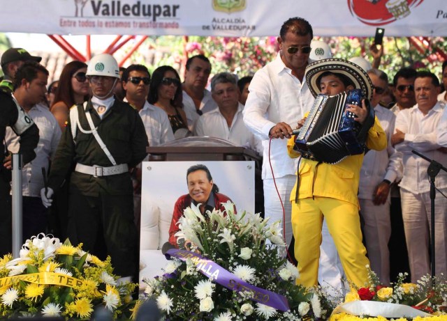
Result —
[{"label": "bright yellow pants of the boy playing accordion", "polygon": [[292,202],[292,228],[295,258],[300,278],[307,287],[318,283],[321,225],[323,216],[334,239],[346,278],[359,288],[367,284],[366,249],[362,244],[360,217],[356,205],[335,198],[315,197]]}]

